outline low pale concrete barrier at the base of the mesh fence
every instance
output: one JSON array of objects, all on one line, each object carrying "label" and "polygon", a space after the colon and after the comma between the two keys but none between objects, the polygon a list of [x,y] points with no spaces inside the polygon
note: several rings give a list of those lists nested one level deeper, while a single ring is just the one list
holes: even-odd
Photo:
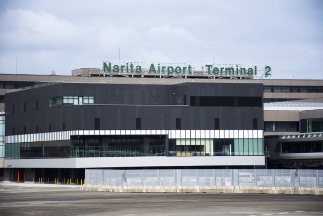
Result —
[{"label": "low pale concrete barrier at the base of the mesh fence", "polygon": [[250,193],[250,194],[312,194],[323,195],[323,188],[246,187],[246,186],[108,186],[83,185],[81,191],[120,193]]}]

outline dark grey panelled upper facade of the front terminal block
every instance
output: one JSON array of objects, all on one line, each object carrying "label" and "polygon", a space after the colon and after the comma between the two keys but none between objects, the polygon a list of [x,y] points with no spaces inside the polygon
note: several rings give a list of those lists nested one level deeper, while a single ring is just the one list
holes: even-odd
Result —
[{"label": "dark grey panelled upper facade of the front terminal block", "polygon": [[[99,129],[136,129],[136,118],[141,129],[177,129],[176,118],[180,129],[216,129],[215,118],[219,129],[263,129],[262,89],[259,83],[53,84],[6,94],[6,135],[95,129],[95,118]],[[93,96],[94,104],[49,108],[59,96]],[[229,101],[212,106],[199,99]],[[244,102],[250,100],[259,103]]]}]

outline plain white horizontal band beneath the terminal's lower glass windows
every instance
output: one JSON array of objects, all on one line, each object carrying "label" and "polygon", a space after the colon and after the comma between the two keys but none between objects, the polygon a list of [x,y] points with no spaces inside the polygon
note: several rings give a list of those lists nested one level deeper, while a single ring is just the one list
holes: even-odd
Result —
[{"label": "plain white horizontal band beneath the terminal's lower glass windows", "polygon": [[96,168],[231,165],[264,165],[264,156],[87,157],[5,160],[5,167],[12,168]]}]

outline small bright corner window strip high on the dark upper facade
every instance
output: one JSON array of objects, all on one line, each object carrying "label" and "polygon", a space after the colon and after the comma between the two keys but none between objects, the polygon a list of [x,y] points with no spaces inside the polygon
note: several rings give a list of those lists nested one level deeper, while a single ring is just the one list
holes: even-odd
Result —
[{"label": "small bright corner window strip high on the dark upper facade", "polygon": [[49,108],[68,106],[68,105],[83,105],[94,104],[93,96],[60,96],[49,98]]}]

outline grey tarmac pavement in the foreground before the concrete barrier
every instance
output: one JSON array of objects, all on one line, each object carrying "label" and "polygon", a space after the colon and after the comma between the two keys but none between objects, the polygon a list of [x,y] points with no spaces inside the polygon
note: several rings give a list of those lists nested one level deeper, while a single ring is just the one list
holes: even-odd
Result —
[{"label": "grey tarmac pavement in the foreground before the concrete barrier", "polygon": [[80,185],[0,183],[0,215],[323,215],[323,196],[112,193]]}]

